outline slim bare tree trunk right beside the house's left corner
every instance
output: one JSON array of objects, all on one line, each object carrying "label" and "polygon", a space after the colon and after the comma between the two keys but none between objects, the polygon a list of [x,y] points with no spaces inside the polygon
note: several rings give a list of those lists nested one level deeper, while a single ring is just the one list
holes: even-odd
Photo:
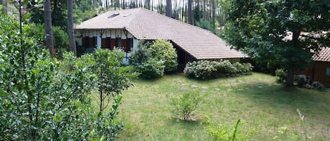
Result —
[{"label": "slim bare tree trunk right beside the house's left corner", "polygon": [[77,49],[75,46],[75,31],[73,29],[73,0],[68,0],[68,33],[70,41],[70,51],[77,56]]}]

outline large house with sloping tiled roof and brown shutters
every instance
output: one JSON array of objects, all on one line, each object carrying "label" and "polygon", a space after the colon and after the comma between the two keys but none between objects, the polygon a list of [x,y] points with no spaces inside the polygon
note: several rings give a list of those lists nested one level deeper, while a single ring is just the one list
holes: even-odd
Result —
[{"label": "large house with sloping tiled roof and brown shutters", "polygon": [[194,60],[238,61],[246,55],[208,30],[168,18],[144,8],[108,11],[75,27],[78,46],[122,47],[127,58],[141,39],[165,39],[177,51],[179,66]]}]

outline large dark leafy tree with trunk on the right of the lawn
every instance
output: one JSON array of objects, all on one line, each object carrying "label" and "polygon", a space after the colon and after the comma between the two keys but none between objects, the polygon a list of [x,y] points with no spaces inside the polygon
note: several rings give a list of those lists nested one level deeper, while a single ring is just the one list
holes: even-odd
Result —
[{"label": "large dark leafy tree with trunk on the right of the lawn", "polygon": [[[311,62],[312,53],[329,46],[330,5],[327,1],[227,1],[224,39],[259,62],[277,61],[293,74]],[[292,36],[288,38],[288,33]]]}]

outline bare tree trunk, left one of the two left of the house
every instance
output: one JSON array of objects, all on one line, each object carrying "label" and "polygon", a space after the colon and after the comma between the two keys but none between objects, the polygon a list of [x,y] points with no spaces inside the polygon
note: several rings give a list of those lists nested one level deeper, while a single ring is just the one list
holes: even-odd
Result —
[{"label": "bare tree trunk, left one of the two left of the house", "polygon": [[54,57],[53,32],[51,31],[51,0],[44,1],[44,22],[46,32],[46,47],[49,48],[51,57]]}]

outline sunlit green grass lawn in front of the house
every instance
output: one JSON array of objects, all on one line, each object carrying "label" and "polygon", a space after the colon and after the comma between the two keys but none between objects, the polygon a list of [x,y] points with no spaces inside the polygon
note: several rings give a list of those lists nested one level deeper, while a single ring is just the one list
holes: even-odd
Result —
[{"label": "sunlit green grass lawn in front of the house", "polygon": [[[206,95],[194,113],[198,120],[174,119],[167,95],[180,95],[193,88],[201,88],[201,94]],[[286,90],[267,74],[210,81],[167,75],[153,81],[138,80],[123,97],[118,119],[125,123],[125,129],[118,140],[211,140],[203,116],[226,126],[241,119],[243,130],[255,130],[250,140],[272,140],[281,126],[303,137],[297,109],[305,116],[311,140],[330,140],[330,93]]]}]

